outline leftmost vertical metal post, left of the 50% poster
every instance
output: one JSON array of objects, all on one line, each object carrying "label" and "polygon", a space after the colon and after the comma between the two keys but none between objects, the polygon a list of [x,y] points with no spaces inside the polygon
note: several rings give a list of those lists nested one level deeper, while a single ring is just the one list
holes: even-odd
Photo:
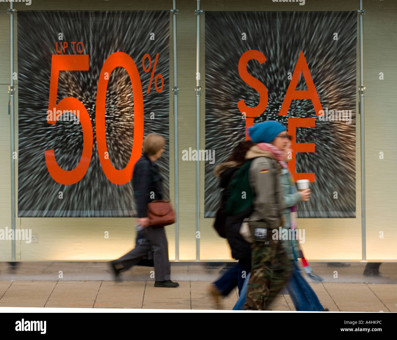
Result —
[{"label": "leftmost vertical metal post, left of the 50% poster", "polygon": [[[14,136],[14,21],[13,21],[13,3],[10,2],[11,9],[7,12],[10,13],[10,87],[8,93],[10,94],[10,129],[11,129],[11,228],[15,235],[15,160],[13,158],[15,152],[15,136]],[[12,261],[15,261],[15,237],[11,241],[11,257]]]}]

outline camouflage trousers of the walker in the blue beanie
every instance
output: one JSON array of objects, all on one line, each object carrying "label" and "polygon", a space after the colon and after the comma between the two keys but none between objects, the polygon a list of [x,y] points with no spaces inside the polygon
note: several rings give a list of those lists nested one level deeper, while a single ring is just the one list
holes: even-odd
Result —
[{"label": "camouflage trousers of the walker in the blue beanie", "polygon": [[265,310],[285,286],[292,274],[282,240],[272,239],[272,229],[262,221],[250,221],[254,242],[251,244],[251,277],[244,309]]}]

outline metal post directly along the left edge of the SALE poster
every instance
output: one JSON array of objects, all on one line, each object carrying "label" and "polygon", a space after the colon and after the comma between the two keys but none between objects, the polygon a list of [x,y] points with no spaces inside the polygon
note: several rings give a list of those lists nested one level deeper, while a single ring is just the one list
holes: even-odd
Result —
[{"label": "metal post directly along the left edge of the SALE poster", "polygon": [[[196,150],[200,150],[200,0],[197,0],[197,47],[196,47]],[[196,161],[196,261],[200,261],[200,161]]]}]

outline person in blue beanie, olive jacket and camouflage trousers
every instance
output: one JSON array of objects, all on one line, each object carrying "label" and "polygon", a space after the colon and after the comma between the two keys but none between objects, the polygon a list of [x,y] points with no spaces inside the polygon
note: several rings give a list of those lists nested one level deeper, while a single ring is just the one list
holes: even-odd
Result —
[{"label": "person in blue beanie, olive jacket and camouflage trousers", "polygon": [[252,206],[248,219],[253,239],[251,276],[244,309],[265,310],[266,304],[274,299],[292,273],[292,264],[282,241],[272,238],[272,231],[284,224],[280,175],[288,134],[286,127],[277,121],[255,124],[248,129],[248,134],[256,143],[245,156],[249,160],[245,163],[249,166],[245,174],[249,179],[245,197],[249,200],[233,196],[235,199],[229,202],[229,209]]}]

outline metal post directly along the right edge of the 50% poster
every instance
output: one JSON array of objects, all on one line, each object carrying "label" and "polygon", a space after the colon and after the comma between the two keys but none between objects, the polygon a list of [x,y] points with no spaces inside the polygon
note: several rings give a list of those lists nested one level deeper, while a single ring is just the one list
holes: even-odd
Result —
[{"label": "metal post directly along the right edge of the 50% poster", "polygon": [[174,96],[174,174],[175,174],[175,261],[179,261],[179,192],[178,192],[178,86],[177,86],[177,67],[176,67],[176,15],[179,12],[176,9],[175,0],[173,0],[171,13],[173,21],[173,61],[174,61],[174,86],[172,88]]}]

